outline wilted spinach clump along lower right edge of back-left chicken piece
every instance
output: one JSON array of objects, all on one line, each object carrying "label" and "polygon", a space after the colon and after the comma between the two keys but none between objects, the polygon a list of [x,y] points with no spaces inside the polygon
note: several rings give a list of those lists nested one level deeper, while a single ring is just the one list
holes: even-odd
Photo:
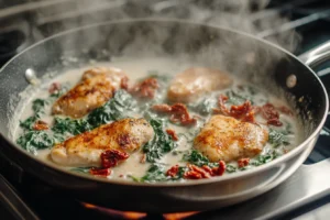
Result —
[{"label": "wilted spinach clump along lower right edge of back-left chicken piece", "polygon": [[95,109],[87,118],[92,128],[101,124],[129,118],[132,110],[136,107],[135,99],[125,90],[118,90],[113,98],[102,107]]}]

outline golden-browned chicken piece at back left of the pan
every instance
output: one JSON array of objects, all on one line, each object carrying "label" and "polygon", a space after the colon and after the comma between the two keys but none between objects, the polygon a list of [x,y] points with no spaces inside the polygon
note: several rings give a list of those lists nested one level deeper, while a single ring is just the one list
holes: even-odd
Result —
[{"label": "golden-browned chicken piece at back left of the pan", "polygon": [[92,68],[84,73],[81,81],[59,97],[52,108],[54,114],[80,118],[102,106],[128,80],[118,68]]}]

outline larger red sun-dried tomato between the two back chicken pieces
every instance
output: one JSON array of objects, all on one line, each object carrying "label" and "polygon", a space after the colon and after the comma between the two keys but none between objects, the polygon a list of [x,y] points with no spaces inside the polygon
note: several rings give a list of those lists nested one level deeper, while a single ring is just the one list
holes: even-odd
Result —
[{"label": "larger red sun-dried tomato between the two back chicken pieces", "polygon": [[141,98],[151,98],[153,99],[156,92],[156,89],[160,88],[158,81],[155,78],[147,78],[139,84],[136,84],[131,92]]}]

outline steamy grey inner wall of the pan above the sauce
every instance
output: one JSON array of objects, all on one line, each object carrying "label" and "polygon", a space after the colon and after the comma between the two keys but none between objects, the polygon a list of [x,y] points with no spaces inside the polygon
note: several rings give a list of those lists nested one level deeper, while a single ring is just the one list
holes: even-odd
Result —
[{"label": "steamy grey inner wall of the pan above the sauce", "polygon": [[[90,61],[111,57],[175,57],[202,63],[244,78],[284,97],[297,109],[305,136],[311,134],[326,112],[324,91],[310,70],[277,47],[230,30],[170,21],[108,23],[61,34],[23,52],[0,73],[0,131],[11,136],[20,96],[26,87],[26,69],[38,79]],[[295,75],[297,85],[289,88],[287,78]],[[33,90],[33,88],[32,88]]]}]

